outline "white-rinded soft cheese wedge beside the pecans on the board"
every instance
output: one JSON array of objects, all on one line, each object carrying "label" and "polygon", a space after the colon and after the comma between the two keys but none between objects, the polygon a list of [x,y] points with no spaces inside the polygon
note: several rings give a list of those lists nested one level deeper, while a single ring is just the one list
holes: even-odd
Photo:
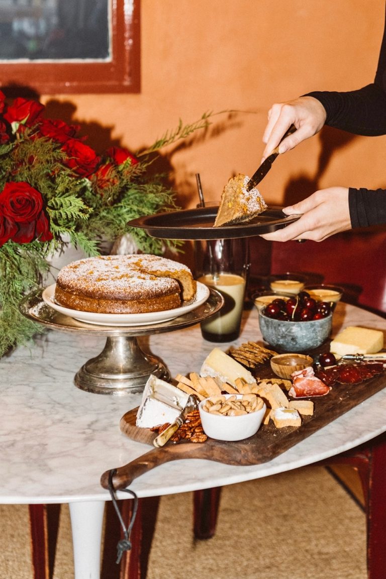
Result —
[{"label": "white-rinded soft cheese wedge beside the pecans on the board", "polygon": [[189,394],[151,374],[146,382],[135,426],[152,428],[174,422],[188,402]]}]

